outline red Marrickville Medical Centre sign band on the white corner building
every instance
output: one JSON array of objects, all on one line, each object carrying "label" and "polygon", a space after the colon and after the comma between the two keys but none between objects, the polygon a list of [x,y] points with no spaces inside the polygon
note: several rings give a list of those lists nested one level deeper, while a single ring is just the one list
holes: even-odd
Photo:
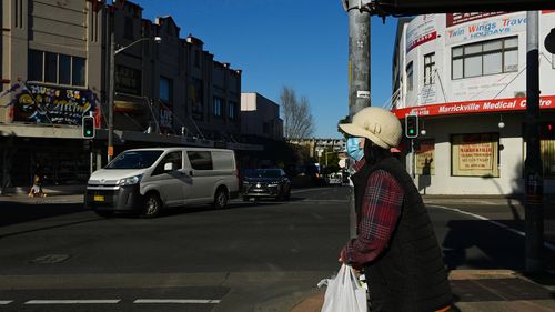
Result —
[{"label": "red Marrickville Medical Centre sign band on the white corner building", "polygon": [[[541,97],[539,109],[555,109],[555,95]],[[423,107],[411,107],[392,110],[397,118],[405,118],[406,114],[417,115],[443,115],[443,114],[466,114],[498,111],[526,110],[526,98],[496,99],[467,102],[453,102],[444,104],[433,104]]]}]

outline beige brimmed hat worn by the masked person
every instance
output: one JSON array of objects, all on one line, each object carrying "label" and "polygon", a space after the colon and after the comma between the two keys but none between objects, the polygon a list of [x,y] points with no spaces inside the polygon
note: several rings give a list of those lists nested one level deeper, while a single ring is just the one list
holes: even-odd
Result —
[{"label": "beige brimmed hat worn by the masked person", "polygon": [[353,122],[342,123],[340,128],[350,135],[366,138],[384,149],[396,148],[403,133],[395,114],[374,107],[362,109],[353,115]]}]

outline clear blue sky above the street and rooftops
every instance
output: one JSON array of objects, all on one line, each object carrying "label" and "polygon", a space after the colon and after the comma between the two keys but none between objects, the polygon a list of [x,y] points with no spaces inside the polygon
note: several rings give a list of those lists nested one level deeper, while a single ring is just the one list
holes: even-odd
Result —
[{"label": "clear blue sky above the street and rooftops", "polygon": [[[143,18],[171,16],[214,59],[243,70],[242,91],[280,103],[284,85],[305,95],[315,137],[340,138],[349,114],[349,19],[340,0],[135,0]],[[391,97],[396,19],[372,18],[372,105]]]}]

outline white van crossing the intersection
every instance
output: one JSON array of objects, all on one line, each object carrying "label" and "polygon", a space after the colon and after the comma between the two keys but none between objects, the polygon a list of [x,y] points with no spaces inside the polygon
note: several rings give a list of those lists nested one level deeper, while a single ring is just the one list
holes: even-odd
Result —
[{"label": "white van crossing the intersection", "polygon": [[128,150],[91,174],[85,204],[99,215],[139,211],[154,218],[164,207],[213,203],[239,195],[232,150],[152,148]]}]

